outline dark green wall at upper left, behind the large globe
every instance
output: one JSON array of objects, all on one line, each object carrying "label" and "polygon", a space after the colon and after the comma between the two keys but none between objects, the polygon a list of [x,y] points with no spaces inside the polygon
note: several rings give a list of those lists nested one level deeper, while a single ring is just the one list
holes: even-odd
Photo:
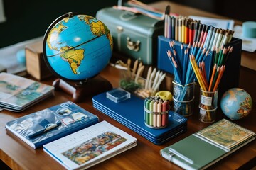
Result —
[{"label": "dark green wall at upper left, behind the large globe", "polygon": [[4,0],[6,22],[0,23],[0,48],[43,36],[50,23],[68,12],[95,16],[100,8],[117,1]]}]

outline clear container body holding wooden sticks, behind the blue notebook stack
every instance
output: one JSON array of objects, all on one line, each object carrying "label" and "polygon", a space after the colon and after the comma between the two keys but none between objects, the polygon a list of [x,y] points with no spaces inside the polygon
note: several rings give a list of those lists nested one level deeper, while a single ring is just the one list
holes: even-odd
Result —
[{"label": "clear container body holding wooden sticks, behind the blue notebook stack", "polygon": [[146,79],[139,77],[136,74],[132,74],[131,71],[121,70],[120,74],[119,86],[122,87],[122,89],[125,89],[141,98],[154,96],[159,90],[159,88],[152,88],[153,82],[148,84]]}]

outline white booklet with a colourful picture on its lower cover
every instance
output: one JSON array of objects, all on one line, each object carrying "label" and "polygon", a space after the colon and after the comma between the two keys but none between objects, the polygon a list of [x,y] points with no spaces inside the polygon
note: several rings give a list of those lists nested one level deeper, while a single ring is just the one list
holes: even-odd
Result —
[{"label": "white booklet with a colourful picture on its lower cover", "polygon": [[43,145],[43,150],[66,169],[87,169],[136,145],[136,138],[104,120]]}]

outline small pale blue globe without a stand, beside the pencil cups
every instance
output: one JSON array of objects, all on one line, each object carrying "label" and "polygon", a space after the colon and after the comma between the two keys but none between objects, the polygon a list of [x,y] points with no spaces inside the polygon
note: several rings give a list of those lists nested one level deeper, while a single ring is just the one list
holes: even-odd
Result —
[{"label": "small pale blue globe without a stand, beside the pencil cups", "polygon": [[228,118],[239,120],[252,111],[252,98],[244,89],[228,89],[220,99],[220,107]]}]

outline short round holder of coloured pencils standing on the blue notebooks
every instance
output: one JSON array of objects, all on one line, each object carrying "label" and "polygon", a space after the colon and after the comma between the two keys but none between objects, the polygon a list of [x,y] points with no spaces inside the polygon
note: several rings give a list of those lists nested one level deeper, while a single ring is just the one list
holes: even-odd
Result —
[{"label": "short round holder of coloured pencils standing on the blue notebooks", "polygon": [[144,101],[144,123],[149,128],[160,129],[168,125],[169,101],[149,96]]}]

